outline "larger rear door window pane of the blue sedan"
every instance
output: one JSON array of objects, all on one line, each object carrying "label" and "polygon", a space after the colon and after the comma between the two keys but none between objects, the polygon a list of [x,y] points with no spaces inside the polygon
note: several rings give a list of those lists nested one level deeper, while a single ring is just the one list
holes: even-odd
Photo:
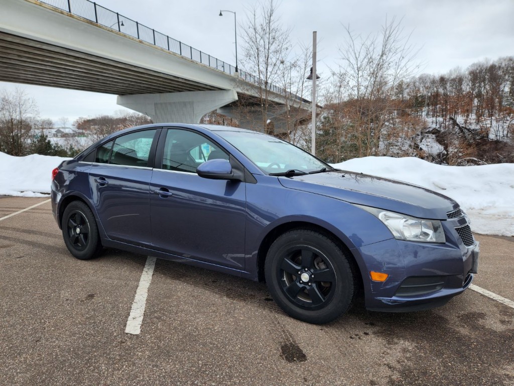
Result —
[{"label": "larger rear door window pane of the blue sedan", "polygon": [[147,166],[150,148],[157,130],[144,130],[116,138],[111,155],[111,164]]}]

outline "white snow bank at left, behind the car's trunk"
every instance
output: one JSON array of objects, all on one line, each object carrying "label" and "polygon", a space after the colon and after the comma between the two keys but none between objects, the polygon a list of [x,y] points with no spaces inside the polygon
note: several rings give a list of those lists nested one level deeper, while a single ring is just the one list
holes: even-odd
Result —
[{"label": "white snow bank at left, behind the car's trunk", "polygon": [[0,152],[0,195],[44,197],[50,193],[52,170],[67,160],[31,154],[14,157]]}]

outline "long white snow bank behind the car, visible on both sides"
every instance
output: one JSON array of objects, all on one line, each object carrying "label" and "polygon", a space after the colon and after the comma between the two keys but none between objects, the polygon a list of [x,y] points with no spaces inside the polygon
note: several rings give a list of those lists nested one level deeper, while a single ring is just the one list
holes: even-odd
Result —
[{"label": "long white snow bank behind the car, visible on both sides", "polygon": [[[44,197],[64,158],[0,153],[0,195]],[[443,166],[412,158],[364,157],[334,165],[424,186],[455,199],[474,232],[514,236],[514,164]]]}]

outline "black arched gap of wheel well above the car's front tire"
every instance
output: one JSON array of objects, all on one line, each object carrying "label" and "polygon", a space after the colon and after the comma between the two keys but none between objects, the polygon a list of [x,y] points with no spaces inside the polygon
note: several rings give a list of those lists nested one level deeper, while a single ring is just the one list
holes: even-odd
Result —
[{"label": "black arched gap of wheel well above the car's front tire", "polygon": [[332,239],[337,245],[339,245],[339,248],[341,248],[345,255],[350,257],[350,267],[352,268],[352,272],[354,273],[354,277],[357,278],[356,284],[358,285],[358,290],[362,290],[364,285],[362,282],[362,275],[359,270],[359,266],[357,265],[357,261],[355,260],[355,256],[352,252],[350,252],[350,249],[346,247],[346,244],[339,239],[334,233],[328,231],[322,226],[312,224],[309,222],[301,222],[301,221],[292,221],[287,222],[285,224],[281,224],[271,230],[266,237],[264,237],[264,240],[261,243],[261,246],[259,247],[259,252],[257,254],[257,274],[259,282],[264,282],[264,262],[266,260],[266,255],[268,254],[269,247],[271,247],[271,244],[273,241],[275,241],[280,235],[295,230],[295,229],[306,229],[309,231],[315,231],[318,233],[321,233],[325,235],[326,237]]}]

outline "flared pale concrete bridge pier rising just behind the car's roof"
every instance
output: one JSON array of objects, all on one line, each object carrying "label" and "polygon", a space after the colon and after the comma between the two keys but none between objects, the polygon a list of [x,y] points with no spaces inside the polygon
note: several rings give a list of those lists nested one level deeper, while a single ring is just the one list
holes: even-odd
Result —
[{"label": "flared pale concrete bridge pier rising just behind the car's roof", "polygon": [[118,95],[117,103],[146,114],[156,123],[198,124],[210,111],[237,100],[234,90],[187,91],[166,94]]}]

